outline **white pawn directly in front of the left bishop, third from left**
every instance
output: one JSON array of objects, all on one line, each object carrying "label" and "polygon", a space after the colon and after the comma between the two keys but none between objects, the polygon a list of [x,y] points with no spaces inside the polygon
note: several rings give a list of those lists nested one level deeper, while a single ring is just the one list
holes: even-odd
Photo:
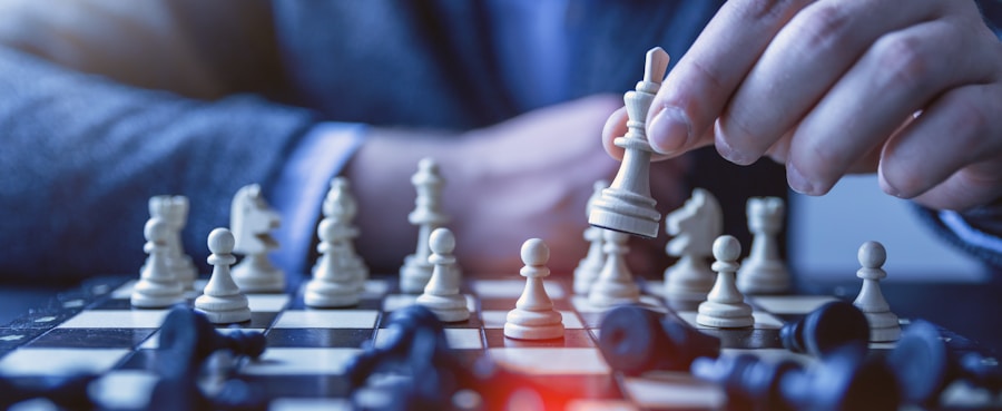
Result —
[{"label": "white pawn directly in front of the left bishop, third from left", "polygon": [[332,309],[358,303],[361,278],[355,273],[354,262],[341,244],[351,236],[351,231],[338,224],[337,218],[324,218],[317,228],[321,243],[313,280],[306,284],[303,303],[312,307]]}]

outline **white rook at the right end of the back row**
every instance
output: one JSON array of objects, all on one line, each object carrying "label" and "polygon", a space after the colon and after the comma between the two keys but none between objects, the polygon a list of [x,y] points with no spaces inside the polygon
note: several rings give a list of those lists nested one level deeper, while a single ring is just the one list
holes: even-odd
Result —
[{"label": "white rook at the right end of the back row", "polygon": [[789,291],[789,271],[779,258],[777,235],[783,228],[785,206],[779,197],[754,197],[747,205],[748,228],[754,234],[752,252],[741,262],[737,287],[746,294],[778,294]]}]

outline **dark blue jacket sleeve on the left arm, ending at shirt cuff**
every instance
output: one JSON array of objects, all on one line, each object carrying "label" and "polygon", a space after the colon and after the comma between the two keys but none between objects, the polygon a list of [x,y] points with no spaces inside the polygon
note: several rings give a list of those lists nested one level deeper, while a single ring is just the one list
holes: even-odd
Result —
[{"label": "dark blue jacket sleeve on the left arm, ending at shirt cuff", "polygon": [[256,98],[207,104],[10,50],[0,50],[0,271],[7,278],[137,270],[146,202],[158,194],[190,197],[184,241],[202,254],[208,231],[228,225],[236,189],[273,184],[312,121]]}]

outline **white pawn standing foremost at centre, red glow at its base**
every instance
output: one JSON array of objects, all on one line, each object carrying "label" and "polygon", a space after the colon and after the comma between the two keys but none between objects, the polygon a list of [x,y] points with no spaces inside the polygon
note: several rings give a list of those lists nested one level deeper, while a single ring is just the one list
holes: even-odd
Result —
[{"label": "white pawn standing foremost at centre, red glow at its base", "polygon": [[550,340],[563,337],[563,315],[553,310],[542,278],[550,275],[547,262],[550,248],[542,239],[531,238],[522,244],[520,274],[525,277],[525,290],[515,309],[508,312],[504,336],[517,340]]}]

